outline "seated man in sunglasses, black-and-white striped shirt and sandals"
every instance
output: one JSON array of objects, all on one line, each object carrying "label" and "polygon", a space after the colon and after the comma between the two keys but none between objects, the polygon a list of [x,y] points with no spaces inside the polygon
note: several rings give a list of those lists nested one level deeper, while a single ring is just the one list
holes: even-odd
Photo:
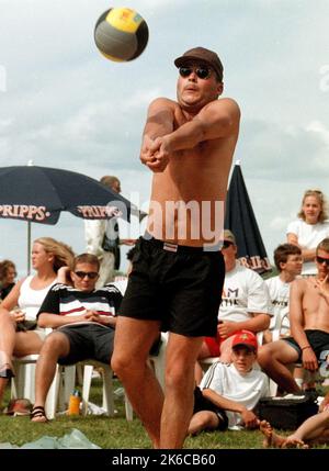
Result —
[{"label": "seated man in sunglasses, black-and-white striped shirt and sandals", "polygon": [[73,269],[67,267],[73,287],[55,284],[39,309],[37,324],[55,330],[45,339],[36,363],[33,422],[47,422],[44,407],[57,362],[111,361],[122,294],[111,284],[95,290],[99,268],[92,254],[76,257]]}]

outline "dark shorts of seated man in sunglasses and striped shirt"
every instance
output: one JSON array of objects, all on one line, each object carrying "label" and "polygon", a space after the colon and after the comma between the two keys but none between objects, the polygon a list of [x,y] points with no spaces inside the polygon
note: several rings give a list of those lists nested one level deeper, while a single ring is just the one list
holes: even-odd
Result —
[{"label": "dark shorts of seated man in sunglasses and striped shirt", "polygon": [[110,365],[114,345],[114,328],[98,324],[70,324],[57,328],[70,343],[67,357],[59,358],[59,365],[75,365],[83,360],[97,360]]}]

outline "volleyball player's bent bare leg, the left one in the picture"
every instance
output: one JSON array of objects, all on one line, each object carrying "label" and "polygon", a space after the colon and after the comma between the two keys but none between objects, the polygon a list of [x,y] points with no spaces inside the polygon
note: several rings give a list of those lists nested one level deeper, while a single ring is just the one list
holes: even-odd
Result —
[{"label": "volleyball player's bent bare leg, the left one in the picture", "polygon": [[159,335],[159,323],[118,317],[111,366],[118,375],[132,406],[143,422],[154,448],[160,446],[163,392],[147,365],[148,352]]}]

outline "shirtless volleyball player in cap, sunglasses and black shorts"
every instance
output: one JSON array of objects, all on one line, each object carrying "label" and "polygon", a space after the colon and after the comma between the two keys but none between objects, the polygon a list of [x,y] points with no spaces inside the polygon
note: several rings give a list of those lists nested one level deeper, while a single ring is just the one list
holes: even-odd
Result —
[{"label": "shirtless volleyball player in cap, sunglasses and black shorts", "polygon": [[[183,446],[195,360],[203,336],[216,334],[223,203],[240,119],[234,100],[218,100],[217,54],[195,47],[174,64],[178,102],[151,102],[144,130],[140,159],[154,171],[148,228],[137,243],[112,358],[155,448]],[[169,332],[164,396],[147,366],[159,330]]]}]

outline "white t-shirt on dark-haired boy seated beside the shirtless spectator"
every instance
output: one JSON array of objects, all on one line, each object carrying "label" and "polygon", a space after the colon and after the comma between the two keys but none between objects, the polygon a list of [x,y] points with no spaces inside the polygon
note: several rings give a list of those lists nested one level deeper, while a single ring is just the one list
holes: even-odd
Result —
[{"label": "white t-shirt on dark-haired boy seated beside the shirtless spectator", "polygon": [[283,318],[280,334],[287,335],[291,328],[288,317],[291,283],[282,281],[279,276],[269,278],[265,283],[269,287],[274,314],[271,318],[270,330],[273,330],[275,324]]}]

